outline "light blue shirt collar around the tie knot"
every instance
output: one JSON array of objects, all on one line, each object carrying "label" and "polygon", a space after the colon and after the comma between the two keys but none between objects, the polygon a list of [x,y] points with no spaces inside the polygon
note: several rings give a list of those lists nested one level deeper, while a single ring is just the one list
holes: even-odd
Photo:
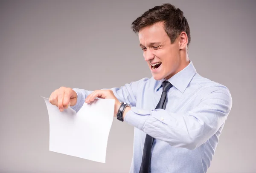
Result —
[{"label": "light blue shirt collar around the tie knot", "polygon": [[[194,75],[196,74],[196,69],[190,60],[189,65],[179,71],[177,74],[173,75],[168,81],[177,88],[180,92],[184,93],[189,82],[192,80]],[[161,87],[163,81],[166,79],[161,79],[158,81],[156,91]]]}]

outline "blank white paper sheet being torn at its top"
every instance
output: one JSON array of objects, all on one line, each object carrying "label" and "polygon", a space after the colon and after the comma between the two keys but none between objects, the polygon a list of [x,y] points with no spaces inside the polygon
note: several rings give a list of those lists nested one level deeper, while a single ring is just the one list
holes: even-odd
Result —
[{"label": "blank white paper sheet being torn at its top", "polygon": [[76,113],[70,107],[60,112],[48,98],[43,98],[49,114],[49,150],[105,163],[114,99],[84,102]]}]

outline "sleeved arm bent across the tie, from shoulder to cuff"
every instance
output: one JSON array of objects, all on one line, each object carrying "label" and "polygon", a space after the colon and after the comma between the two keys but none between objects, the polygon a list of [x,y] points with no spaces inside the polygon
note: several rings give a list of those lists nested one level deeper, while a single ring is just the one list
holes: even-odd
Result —
[{"label": "sleeved arm bent across the tie, from shoulder to cuff", "polygon": [[128,124],[174,147],[193,150],[206,142],[221,127],[232,107],[228,90],[217,89],[205,96],[199,105],[185,114],[163,109],[125,109]]}]

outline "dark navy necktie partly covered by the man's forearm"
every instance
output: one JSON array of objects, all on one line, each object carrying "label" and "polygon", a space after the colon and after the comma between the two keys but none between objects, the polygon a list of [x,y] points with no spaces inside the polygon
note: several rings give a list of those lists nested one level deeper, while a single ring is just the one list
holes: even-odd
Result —
[{"label": "dark navy necktie partly covered by the man's forearm", "polygon": [[[167,103],[167,92],[172,87],[172,84],[167,80],[162,83],[163,92],[160,98],[160,101],[157,104],[156,109],[165,109]],[[154,138],[146,135],[144,148],[143,148],[143,156],[142,162],[140,166],[140,173],[149,173],[149,167],[151,166],[151,148],[154,142]]]}]

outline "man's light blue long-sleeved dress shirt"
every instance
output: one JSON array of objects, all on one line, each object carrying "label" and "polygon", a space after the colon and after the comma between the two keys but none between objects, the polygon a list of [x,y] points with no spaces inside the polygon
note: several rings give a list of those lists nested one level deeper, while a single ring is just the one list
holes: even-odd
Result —
[{"label": "man's light blue long-sleeved dress shirt", "polygon": [[[146,133],[156,139],[151,173],[206,173],[232,107],[230,91],[201,77],[190,61],[168,79],[173,87],[167,93],[166,109],[155,110],[164,80],[143,78],[111,88],[120,102],[132,105],[124,119],[135,127],[130,173],[139,173]],[[73,90],[78,102],[71,108],[77,112],[93,91]]]}]

